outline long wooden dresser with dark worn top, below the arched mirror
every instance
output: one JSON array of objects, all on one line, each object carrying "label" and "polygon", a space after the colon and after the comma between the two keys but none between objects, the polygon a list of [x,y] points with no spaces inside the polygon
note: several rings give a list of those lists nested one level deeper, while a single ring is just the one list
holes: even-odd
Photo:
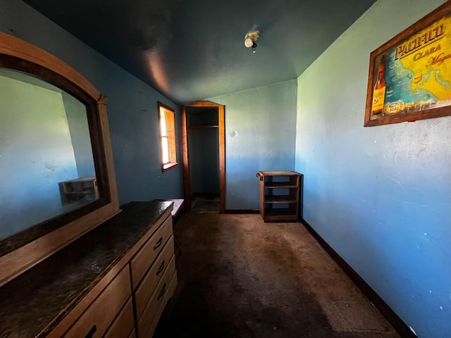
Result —
[{"label": "long wooden dresser with dark worn top, below the arched mirror", "polygon": [[177,285],[172,209],[127,204],[0,287],[0,337],[152,337]]}]

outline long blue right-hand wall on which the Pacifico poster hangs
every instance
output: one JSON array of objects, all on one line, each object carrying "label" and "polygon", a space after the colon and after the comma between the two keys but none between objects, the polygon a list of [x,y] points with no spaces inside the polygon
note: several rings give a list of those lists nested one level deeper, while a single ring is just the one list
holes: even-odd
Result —
[{"label": "long blue right-hand wall on which the Pacifico poster hangs", "polygon": [[451,337],[451,117],[363,123],[369,54],[443,2],[379,0],[299,77],[295,166],[305,220],[434,338]]}]

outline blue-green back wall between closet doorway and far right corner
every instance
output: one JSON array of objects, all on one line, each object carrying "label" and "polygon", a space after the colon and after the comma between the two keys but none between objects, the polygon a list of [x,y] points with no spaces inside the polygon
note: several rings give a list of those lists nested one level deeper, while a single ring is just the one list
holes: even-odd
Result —
[{"label": "blue-green back wall between closet doorway and far right corner", "polygon": [[226,106],[226,209],[259,209],[259,170],[294,170],[296,80],[208,99]]}]

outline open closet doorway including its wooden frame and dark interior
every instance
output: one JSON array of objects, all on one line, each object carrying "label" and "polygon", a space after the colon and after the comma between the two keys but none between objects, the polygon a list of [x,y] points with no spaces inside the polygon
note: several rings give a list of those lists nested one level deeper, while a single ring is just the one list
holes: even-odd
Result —
[{"label": "open closet doorway including its wooden frame and dark interior", "polygon": [[[185,211],[196,204],[218,204],[226,211],[226,134],[224,106],[194,101],[181,106]],[[202,205],[199,204],[202,208]],[[213,212],[214,212],[213,207]]]}]

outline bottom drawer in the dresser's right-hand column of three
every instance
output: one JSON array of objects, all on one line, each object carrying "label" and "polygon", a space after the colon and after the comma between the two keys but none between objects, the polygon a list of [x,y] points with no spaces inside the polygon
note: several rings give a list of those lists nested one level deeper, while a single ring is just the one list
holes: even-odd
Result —
[{"label": "bottom drawer in the dresser's right-hand column of three", "polygon": [[[166,306],[168,299],[171,298],[175,291],[176,285],[177,273],[175,273],[175,259],[173,258],[171,260],[171,263],[168,265],[168,268],[166,268],[163,278],[161,278],[160,282],[158,283],[154,294],[152,294],[149,303],[147,303],[147,306],[144,309],[141,318],[138,320],[138,337],[152,337],[153,332],[150,332],[152,323],[159,320],[161,315],[161,313],[159,313],[159,308],[164,308],[164,306]],[[161,312],[163,312],[163,310],[161,310]]]}]

